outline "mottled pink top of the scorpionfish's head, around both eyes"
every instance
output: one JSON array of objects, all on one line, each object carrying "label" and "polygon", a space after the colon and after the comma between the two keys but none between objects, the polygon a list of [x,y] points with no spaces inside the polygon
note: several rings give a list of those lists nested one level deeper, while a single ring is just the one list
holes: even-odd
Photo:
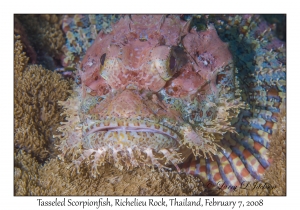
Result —
[{"label": "mottled pink top of the scorpionfish's head, around both eyes", "polygon": [[[188,28],[189,22],[172,15],[121,18],[110,34],[100,32],[87,50],[81,62],[82,83],[94,95],[129,86],[157,92],[179,72],[179,76],[167,85],[167,92],[172,96],[195,94],[207,83],[210,86],[206,87],[207,93],[217,93],[218,70],[232,61],[228,46],[220,40],[212,25],[203,32],[194,29],[188,32]],[[174,55],[176,68],[166,70],[165,67],[171,65],[172,47],[179,44],[185,55]],[[184,63],[181,66],[180,59]]]}]

